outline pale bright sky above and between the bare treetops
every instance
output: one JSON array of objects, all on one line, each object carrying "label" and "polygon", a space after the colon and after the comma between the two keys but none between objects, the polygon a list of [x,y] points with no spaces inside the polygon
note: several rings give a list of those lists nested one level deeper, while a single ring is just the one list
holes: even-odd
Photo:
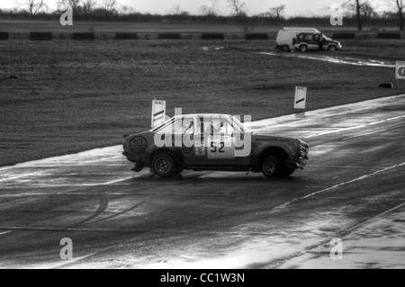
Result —
[{"label": "pale bright sky above and between the bare treetops", "polygon": [[[16,1],[24,0],[0,0],[0,8],[13,8]],[[45,0],[50,9],[57,7],[58,0]],[[103,0],[95,0],[102,2]],[[330,4],[339,3],[341,0],[245,0],[247,4],[247,13],[257,14],[265,13],[270,7],[285,4],[285,15],[290,16],[312,16],[329,14]],[[372,0],[374,6],[381,7],[384,0]],[[121,5],[128,5],[139,13],[169,13],[173,5],[178,4],[180,7],[191,14],[200,14],[202,4],[211,5],[210,0],[117,0]],[[222,15],[229,15],[230,9],[227,0],[219,0],[218,11]]]}]

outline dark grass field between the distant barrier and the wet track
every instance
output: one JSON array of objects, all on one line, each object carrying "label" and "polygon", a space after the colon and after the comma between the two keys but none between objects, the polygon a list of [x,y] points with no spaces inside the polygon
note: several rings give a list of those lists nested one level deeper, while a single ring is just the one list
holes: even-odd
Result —
[{"label": "dark grass field between the distant barrier and the wet track", "polygon": [[[343,44],[337,55],[405,59],[405,40]],[[297,112],[295,85],[309,89],[307,110],[405,93],[378,87],[395,82],[391,68],[255,53],[274,46],[271,40],[0,41],[0,166],[120,144],[121,135],[148,129],[155,97],[167,101],[170,115],[182,107],[258,120]]]}]

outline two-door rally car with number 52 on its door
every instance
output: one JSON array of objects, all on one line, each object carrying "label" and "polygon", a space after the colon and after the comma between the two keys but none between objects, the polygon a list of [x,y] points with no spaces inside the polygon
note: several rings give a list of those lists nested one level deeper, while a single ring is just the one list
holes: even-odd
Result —
[{"label": "two-door rally car with number 52 on its door", "polygon": [[258,135],[226,114],[175,116],[145,132],[124,136],[122,154],[141,171],[158,176],[193,171],[262,172],[289,176],[309,159],[301,139]]}]

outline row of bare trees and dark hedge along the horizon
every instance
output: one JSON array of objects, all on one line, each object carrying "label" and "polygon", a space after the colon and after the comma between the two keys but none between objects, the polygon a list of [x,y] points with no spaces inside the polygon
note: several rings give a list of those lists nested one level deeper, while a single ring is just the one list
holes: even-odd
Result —
[{"label": "row of bare trees and dark hedge along the horizon", "polygon": [[[223,0],[222,0],[223,1]],[[57,9],[49,11],[47,0],[16,0],[14,9],[0,9],[0,16],[25,17],[32,19],[50,19],[71,9],[78,19],[89,20],[123,20],[123,21],[187,21],[187,22],[238,22],[244,30],[249,30],[258,22],[282,23],[286,22],[285,4],[269,7],[263,13],[247,14],[247,3],[243,0],[225,0],[229,8],[229,15],[219,13],[220,0],[208,0],[209,4],[202,4],[199,14],[192,15],[179,4],[174,4],[165,15],[139,13],[128,5],[121,5],[117,0],[58,0]],[[338,1],[338,0],[337,0]],[[365,22],[391,23],[396,22],[401,31],[404,30],[405,0],[382,0],[388,10],[377,12],[373,0],[340,0],[338,4],[326,7],[329,13],[339,14],[347,22],[356,22],[357,30],[362,31]],[[325,11],[327,12],[327,11]],[[328,14],[328,13],[326,13]],[[288,19],[294,22],[304,17],[296,16]],[[329,16],[311,17],[312,19],[329,18]]]}]

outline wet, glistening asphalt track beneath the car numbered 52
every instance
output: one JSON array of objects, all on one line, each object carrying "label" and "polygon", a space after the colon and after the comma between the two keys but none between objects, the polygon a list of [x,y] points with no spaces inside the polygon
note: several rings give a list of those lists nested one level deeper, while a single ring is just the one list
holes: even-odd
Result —
[{"label": "wet, glistening asphalt track beneath the car numbered 52", "polygon": [[[121,147],[2,167],[0,267],[404,268],[404,111],[399,95],[254,122],[309,143],[309,165],[287,179],[134,174]],[[374,240],[331,260],[331,238]]]}]

